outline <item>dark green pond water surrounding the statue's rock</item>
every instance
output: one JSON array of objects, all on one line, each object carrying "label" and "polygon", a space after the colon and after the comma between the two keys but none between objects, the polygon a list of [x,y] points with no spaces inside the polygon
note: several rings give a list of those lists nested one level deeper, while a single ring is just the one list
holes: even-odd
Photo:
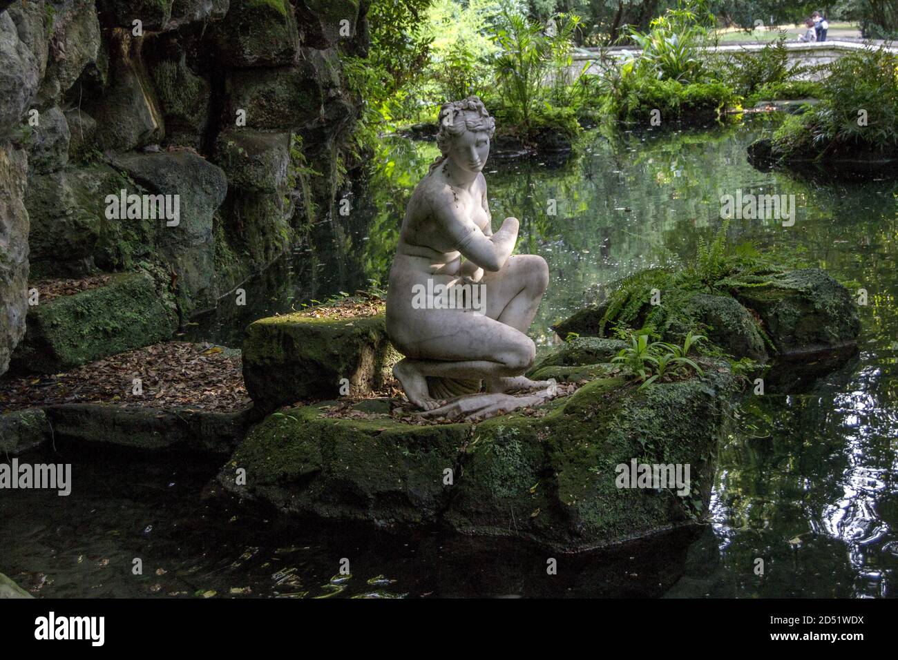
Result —
[{"label": "dark green pond water surrounding the statue's rock", "polygon": [[[856,358],[802,393],[746,402],[740,433],[722,447],[710,523],[696,534],[565,558],[550,578],[545,554],[525,548],[285,525],[207,503],[199,494],[215,461],[136,462],[60,447],[84,487],[67,498],[5,491],[0,567],[26,587],[49,580],[38,592],[48,595],[220,596],[250,587],[253,595],[308,597],[894,596],[898,183],[753,169],[745,146],[774,120],[611,140],[592,133],[567,163],[488,164],[494,219],[518,217],[518,251],[550,264],[532,329],[546,348],[550,323],[577,309],[586,289],[670,254],[691,255],[720,224],[720,196],[736,189],[795,195],[797,217],[791,227],[735,220],[733,241],[788,251],[867,289]],[[223,304],[189,336],[237,346],[255,318],[383,284],[405,200],[435,154],[434,145],[387,141],[383,172],[348,191],[348,217],[316,227],[310,244],[246,286],[246,307]],[[144,576],[131,574],[136,557]],[[332,581],[343,558],[352,576]],[[157,568],[166,572],[157,576]]]}]

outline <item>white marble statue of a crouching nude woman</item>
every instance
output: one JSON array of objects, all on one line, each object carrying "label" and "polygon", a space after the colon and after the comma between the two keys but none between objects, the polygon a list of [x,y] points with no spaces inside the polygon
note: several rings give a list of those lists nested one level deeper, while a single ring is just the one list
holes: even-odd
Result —
[{"label": "white marble statue of a crouching nude woman", "polygon": [[390,271],[387,334],[405,356],[393,374],[430,416],[488,416],[558,389],[523,375],[533,365],[526,332],[549,268],[539,256],[511,255],[516,218],[492,232],[481,171],[495,127],[476,96],[441,108],[442,155],[409,199]]}]

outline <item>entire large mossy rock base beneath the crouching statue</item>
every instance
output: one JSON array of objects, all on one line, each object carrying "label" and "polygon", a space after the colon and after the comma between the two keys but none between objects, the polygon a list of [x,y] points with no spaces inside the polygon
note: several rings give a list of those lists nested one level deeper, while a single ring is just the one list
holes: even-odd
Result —
[{"label": "entire large mossy rock base beneath the crouching statue", "polygon": [[[735,390],[726,364],[715,363],[701,378],[642,392],[624,377],[601,377],[551,401],[541,417],[477,425],[416,426],[376,409],[329,418],[327,404],[284,409],[251,430],[218,480],[299,515],[439,524],[587,550],[700,517]],[[615,467],[633,459],[688,463],[688,494],[618,488]]]}]

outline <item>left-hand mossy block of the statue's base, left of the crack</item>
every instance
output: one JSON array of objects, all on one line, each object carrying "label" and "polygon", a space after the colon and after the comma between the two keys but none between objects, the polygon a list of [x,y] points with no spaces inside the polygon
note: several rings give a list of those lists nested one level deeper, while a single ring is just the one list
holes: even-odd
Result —
[{"label": "left-hand mossy block of the statue's base, left of the crack", "polygon": [[[243,497],[284,511],[376,525],[436,521],[470,425],[409,427],[390,418],[332,419],[287,409],[253,428],[219,474]],[[246,471],[238,485],[238,470]]]}]

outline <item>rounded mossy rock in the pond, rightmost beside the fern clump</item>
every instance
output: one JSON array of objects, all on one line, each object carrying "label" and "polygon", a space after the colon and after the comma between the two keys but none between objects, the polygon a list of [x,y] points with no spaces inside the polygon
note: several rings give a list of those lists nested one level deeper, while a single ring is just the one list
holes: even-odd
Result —
[{"label": "rounded mossy rock in the pond, rightmost beside the fern clump", "polygon": [[789,271],[770,286],[737,289],[735,297],[761,317],[782,356],[836,351],[857,343],[855,301],[820,268]]}]

